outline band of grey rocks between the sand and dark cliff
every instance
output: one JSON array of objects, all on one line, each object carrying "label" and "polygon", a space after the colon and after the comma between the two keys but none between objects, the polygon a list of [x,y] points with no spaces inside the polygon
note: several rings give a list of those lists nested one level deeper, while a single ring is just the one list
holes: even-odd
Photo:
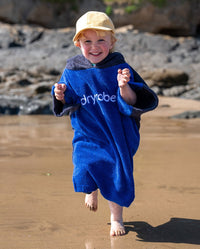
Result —
[{"label": "band of grey rocks between the sand and dark cliff", "polygon": [[[0,113],[51,114],[51,86],[80,53],[74,29],[0,26]],[[200,40],[117,29],[116,50],[163,96],[200,100]]]}]

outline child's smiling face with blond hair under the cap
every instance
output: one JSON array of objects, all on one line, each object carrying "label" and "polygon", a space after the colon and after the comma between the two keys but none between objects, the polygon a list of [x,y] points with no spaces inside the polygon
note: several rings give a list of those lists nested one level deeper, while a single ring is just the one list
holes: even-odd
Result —
[{"label": "child's smiling face with blond hair under the cap", "polygon": [[99,63],[109,54],[113,48],[110,32],[105,32],[104,36],[99,36],[95,30],[88,29],[84,31],[76,46],[81,49],[82,54],[91,63]]}]

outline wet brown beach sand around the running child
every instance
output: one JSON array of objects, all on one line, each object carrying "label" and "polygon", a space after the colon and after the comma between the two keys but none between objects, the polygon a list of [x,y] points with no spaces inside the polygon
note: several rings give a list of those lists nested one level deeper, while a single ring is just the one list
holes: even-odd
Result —
[{"label": "wet brown beach sand around the running child", "polygon": [[168,118],[191,109],[200,102],[161,98],[143,115],[136,199],[119,238],[107,201],[93,213],[74,193],[69,119],[1,116],[0,249],[200,248],[200,119]]}]

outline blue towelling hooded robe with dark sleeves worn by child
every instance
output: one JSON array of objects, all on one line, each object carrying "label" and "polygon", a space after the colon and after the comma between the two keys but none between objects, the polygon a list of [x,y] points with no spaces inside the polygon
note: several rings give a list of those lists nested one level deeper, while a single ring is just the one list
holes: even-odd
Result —
[{"label": "blue towelling hooded robe with dark sleeves worn by child", "polygon": [[[135,106],[120,96],[117,71],[129,68]],[[138,81],[138,82],[137,82]],[[142,113],[158,104],[156,94],[120,53],[109,54],[93,66],[82,55],[71,58],[59,83],[67,86],[66,104],[54,96],[54,114],[70,115],[73,138],[73,184],[77,192],[100,189],[104,198],[128,207],[134,200],[133,156]]]}]

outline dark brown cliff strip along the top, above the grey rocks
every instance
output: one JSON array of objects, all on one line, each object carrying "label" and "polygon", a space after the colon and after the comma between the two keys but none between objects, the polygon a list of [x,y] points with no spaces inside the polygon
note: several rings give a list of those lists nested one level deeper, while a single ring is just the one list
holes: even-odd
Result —
[{"label": "dark brown cliff strip along the top, above the grey rocks", "polygon": [[175,36],[200,33],[199,0],[0,0],[0,21],[74,27],[88,10],[109,12],[117,27],[132,24],[141,31]]}]

